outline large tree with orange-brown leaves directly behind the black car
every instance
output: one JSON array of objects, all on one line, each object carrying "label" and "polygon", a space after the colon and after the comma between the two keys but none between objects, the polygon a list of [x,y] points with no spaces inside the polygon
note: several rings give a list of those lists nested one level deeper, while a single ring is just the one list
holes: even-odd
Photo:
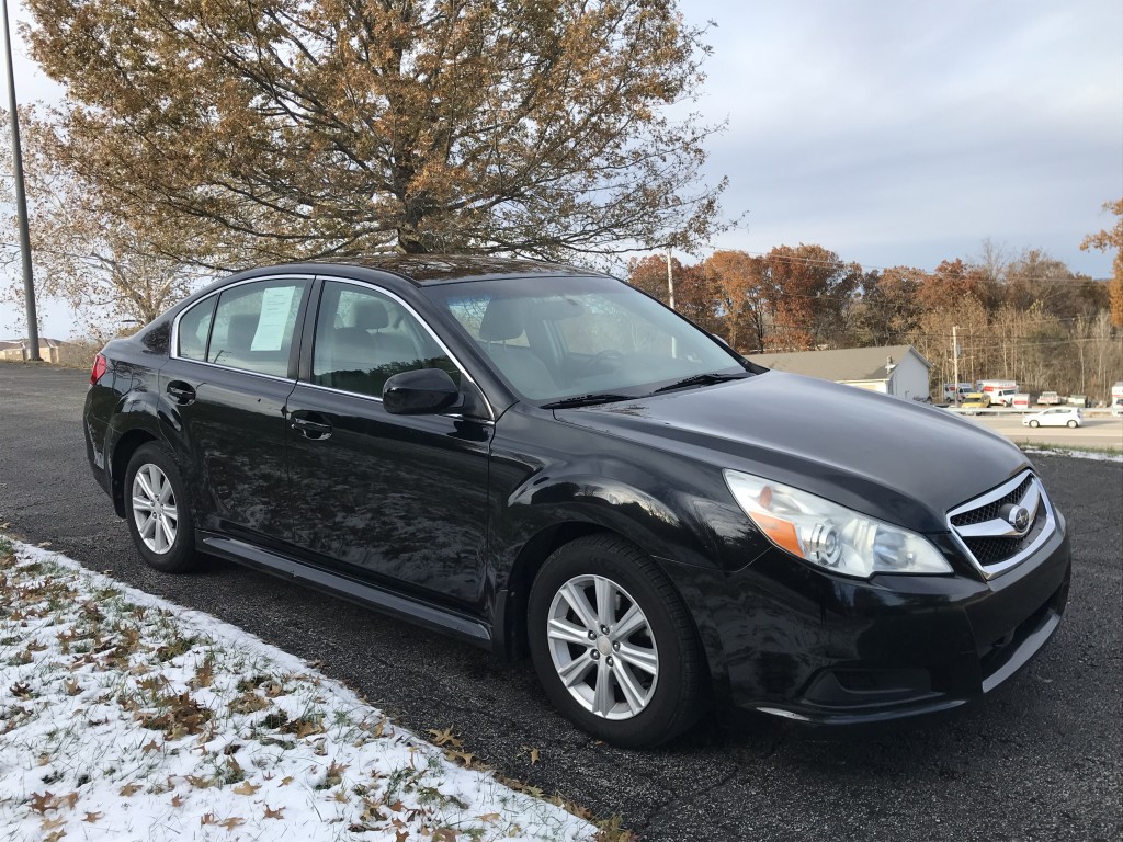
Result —
[{"label": "large tree with orange-brown leaves directly behind the black car", "polygon": [[723,228],[721,127],[670,111],[709,52],[676,0],[27,6],[66,86],[58,159],[204,265],[572,259]]}]

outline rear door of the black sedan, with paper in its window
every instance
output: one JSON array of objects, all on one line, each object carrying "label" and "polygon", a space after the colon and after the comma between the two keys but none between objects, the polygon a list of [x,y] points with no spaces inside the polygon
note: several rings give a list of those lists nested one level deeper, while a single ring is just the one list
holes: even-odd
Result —
[{"label": "rear door of the black sedan, with paper in its window", "polygon": [[272,546],[291,534],[285,402],[310,287],[310,277],[241,282],[175,322],[161,404],[199,529]]}]

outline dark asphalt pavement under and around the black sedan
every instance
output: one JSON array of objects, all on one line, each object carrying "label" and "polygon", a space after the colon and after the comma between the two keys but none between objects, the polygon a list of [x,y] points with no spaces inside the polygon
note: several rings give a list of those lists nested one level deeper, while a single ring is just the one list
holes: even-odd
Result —
[{"label": "dark asphalt pavement under and around the black sedan", "polygon": [[[453,726],[466,751],[499,771],[600,817],[619,814],[642,840],[1123,839],[1119,463],[1034,456],[1072,534],[1069,608],[1046,650],[980,704],[947,722],[849,740],[707,722],[637,752],[559,717],[529,662],[496,665],[436,633],[218,560],[185,576],[147,568],[86,465],[86,381],[0,363],[0,523],[11,533],[320,661],[408,727]],[[0,686],[0,703],[7,693]]]}]

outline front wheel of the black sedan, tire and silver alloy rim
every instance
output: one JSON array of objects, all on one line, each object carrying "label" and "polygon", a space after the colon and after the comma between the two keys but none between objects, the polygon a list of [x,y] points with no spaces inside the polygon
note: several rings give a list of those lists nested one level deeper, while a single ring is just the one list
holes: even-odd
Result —
[{"label": "front wheel of the black sedan, tire and silver alloy rim", "polygon": [[596,738],[656,745],[702,714],[705,669],[694,623],[633,544],[588,536],[556,550],[530,589],[527,622],[546,695]]}]

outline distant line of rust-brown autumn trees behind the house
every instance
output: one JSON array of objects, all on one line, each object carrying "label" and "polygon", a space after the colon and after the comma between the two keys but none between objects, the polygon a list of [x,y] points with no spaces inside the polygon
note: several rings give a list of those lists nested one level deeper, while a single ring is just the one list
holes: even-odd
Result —
[{"label": "distant line of rust-brown autumn trees behind the house", "polygon": [[[1123,201],[1108,209],[1121,221],[1088,247],[1123,245]],[[984,241],[979,257],[933,271],[866,269],[805,244],[670,266],[675,309],[741,354],[912,345],[939,388],[953,381],[955,327],[961,382],[1002,377],[1102,400],[1123,379],[1123,274],[1096,281],[1039,249],[1007,259]],[[669,302],[666,255],[633,258],[628,281]]]}]

